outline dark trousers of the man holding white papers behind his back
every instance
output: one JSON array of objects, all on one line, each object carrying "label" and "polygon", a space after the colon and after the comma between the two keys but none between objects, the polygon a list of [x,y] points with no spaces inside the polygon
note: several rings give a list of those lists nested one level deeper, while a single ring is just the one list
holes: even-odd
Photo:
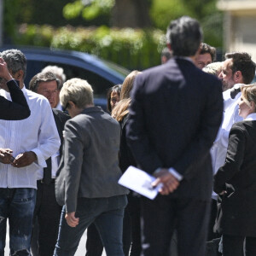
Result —
[{"label": "dark trousers of the man holding white papers behind his back", "polygon": [[179,256],[205,256],[210,201],[142,198],[143,256],[169,256],[174,228]]}]

